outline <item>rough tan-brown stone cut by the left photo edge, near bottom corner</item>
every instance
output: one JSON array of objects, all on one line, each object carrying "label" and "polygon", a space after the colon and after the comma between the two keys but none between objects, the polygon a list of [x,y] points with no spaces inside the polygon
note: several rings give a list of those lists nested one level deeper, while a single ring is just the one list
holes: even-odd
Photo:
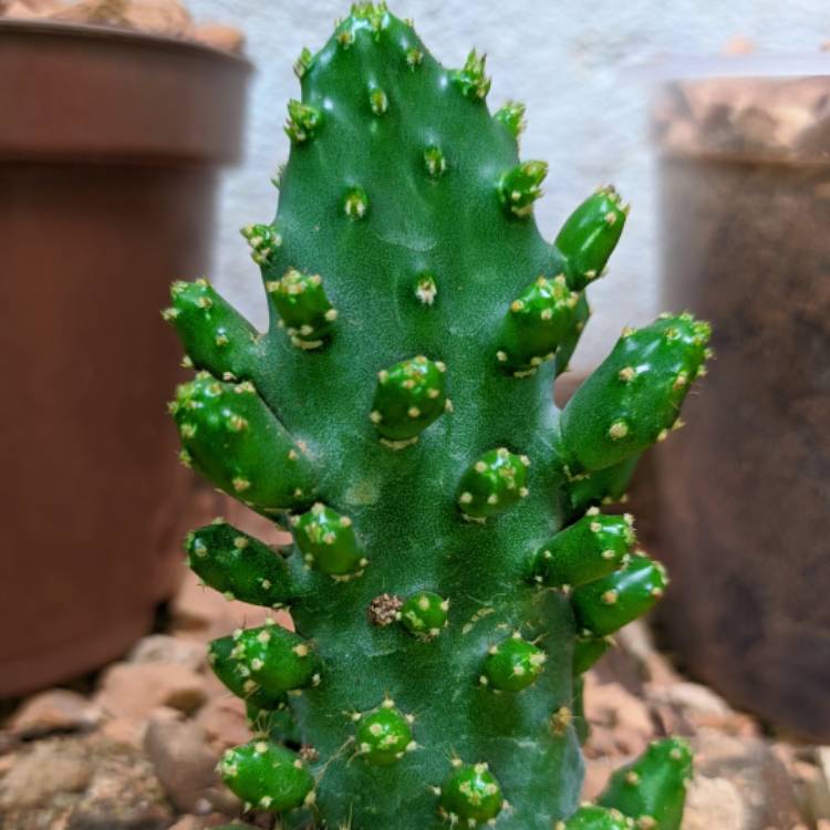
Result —
[{"label": "rough tan-brown stone cut by the left photo edge, near bottom corner", "polygon": [[0,810],[9,813],[43,807],[58,793],[81,792],[92,778],[93,759],[75,739],[40,740],[13,757],[0,779]]}]

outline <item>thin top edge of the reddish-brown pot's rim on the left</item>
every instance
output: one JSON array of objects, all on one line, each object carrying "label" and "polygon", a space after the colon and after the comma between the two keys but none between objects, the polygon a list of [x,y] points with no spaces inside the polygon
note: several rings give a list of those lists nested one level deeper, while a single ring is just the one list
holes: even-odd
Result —
[{"label": "thin top edge of the reddish-brown pot's rim on the left", "polygon": [[20,34],[22,37],[54,34],[65,38],[120,41],[125,46],[154,46],[183,53],[190,52],[196,58],[211,58],[226,61],[229,64],[236,64],[236,68],[242,72],[251,72],[253,70],[253,64],[243,55],[208,46],[205,43],[199,43],[188,38],[142,32],[135,29],[121,29],[96,23],[0,18],[0,34]]}]

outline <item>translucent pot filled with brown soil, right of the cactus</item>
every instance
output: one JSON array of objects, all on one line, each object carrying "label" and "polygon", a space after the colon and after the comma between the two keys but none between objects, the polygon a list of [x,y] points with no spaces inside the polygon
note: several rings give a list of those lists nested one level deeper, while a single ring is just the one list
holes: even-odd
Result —
[{"label": "translucent pot filled with brown soil, right of the cactus", "polygon": [[674,577],[662,618],[696,675],[827,741],[830,77],[706,79],[670,94],[664,304],[712,321],[716,360],[688,427],[657,454]]}]

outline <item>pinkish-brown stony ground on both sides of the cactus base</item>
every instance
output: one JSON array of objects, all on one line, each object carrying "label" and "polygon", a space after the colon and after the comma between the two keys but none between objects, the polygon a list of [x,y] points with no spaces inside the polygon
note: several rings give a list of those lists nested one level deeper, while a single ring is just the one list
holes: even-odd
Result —
[{"label": "pinkish-brown stony ground on both sides of the cactus base", "polygon": [[[248,529],[266,530],[250,519]],[[7,707],[0,830],[201,830],[240,817],[215,764],[248,730],[240,701],[207,671],[205,644],[264,613],[186,577],[159,633],[123,661]],[[585,798],[650,739],[681,734],[697,755],[684,830],[830,830],[830,747],[770,737],[677,674],[644,625],[619,645],[588,679]]]}]

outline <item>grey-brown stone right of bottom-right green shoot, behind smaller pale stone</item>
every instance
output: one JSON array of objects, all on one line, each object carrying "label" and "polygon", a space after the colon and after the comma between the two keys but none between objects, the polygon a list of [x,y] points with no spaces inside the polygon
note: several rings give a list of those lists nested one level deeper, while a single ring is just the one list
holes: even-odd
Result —
[{"label": "grey-brown stone right of bottom-right green shoot, behind smaller pale stone", "polygon": [[800,816],[787,769],[760,738],[738,738],[701,729],[692,738],[695,769],[708,778],[726,778],[740,795],[745,827],[791,828]]}]

